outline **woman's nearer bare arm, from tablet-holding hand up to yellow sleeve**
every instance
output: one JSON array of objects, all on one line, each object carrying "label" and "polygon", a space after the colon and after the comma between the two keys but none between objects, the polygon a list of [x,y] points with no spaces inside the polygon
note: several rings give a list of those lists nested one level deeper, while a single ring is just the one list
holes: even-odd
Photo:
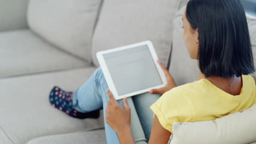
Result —
[{"label": "woman's nearer bare arm, from tablet-holding hand up to yellow sleeve", "polygon": [[[120,107],[113,94],[108,90],[108,106],[106,109],[106,122],[117,132],[121,144],[135,143],[131,130],[131,109],[127,103],[127,98],[123,99],[124,109]],[[162,127],[158,117],[154,116],[152,131],[149,143],[164,143],[169,140],[171,133]]]}]

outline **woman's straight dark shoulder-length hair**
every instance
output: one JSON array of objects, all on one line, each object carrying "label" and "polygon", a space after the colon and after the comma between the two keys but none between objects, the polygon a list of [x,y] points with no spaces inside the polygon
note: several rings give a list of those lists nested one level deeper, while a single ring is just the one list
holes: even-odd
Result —
[{"label": "woman's straight dark shoulder-length hair", "polygon": [[240,0],[190,0],[186,10],[199,30],[199,68],[206,77],[255,71],[245,10]]}]

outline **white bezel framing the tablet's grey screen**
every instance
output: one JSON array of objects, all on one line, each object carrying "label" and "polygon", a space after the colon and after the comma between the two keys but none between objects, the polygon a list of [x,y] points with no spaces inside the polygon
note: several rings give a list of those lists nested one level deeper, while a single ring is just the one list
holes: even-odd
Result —
[{"label": "white bezel framing the tablet's grey screen", "polygon": [[[107,65],[106,65],[106,62],[104,60],[103,55],[106,54],[106,53],[121,51],[121,50],[130,49],[130,48],[137,47],[137,46],[142,46],[142,45],[148,45],[148,49],[150,51],[150,54],[151,54],[151,56],[153,58],[154,64],[156,66],[156,69],[158,70],[158,73],[160,75],[160,78],[161,78],[163,84],[155,86],[155,87],[150,87],[150,88],[142,89],[140,91],[136,91],[136,92],[132,92],[132,93],[118,95],[117,89],[115,88],[115,85],[114,85],[114,82],[112,80],[112,77],[109,74],[109,70],[107,68]],[[114,95],[116,100],[123,99],[125,97],[132,97],[133,95],[137,95],[137,94],[141,94],[141,93],[145,93],[145,92],[149,92],[150,89],[165,87],[166,84],[167,84],[164,71],[162,70],[162,68],[160,67],[160,65],[157,62],[158,56],[156,55],[156,52],[154,50],[154,46],[151,43],[151,41],[149,41],[149,40],[143,41],[141,43],[136,43],[136,44],[131,44],[131,45],[117,47],[115,49],[99,51],[99,52],[96,53],[96,56],[97,56],[98,62],[101,65],[101,69],[102,69],[103,75],[104,75],[104,77],[105,77],[105,79],[107,81],[108,87],[109,87],[110,91],[113,93],[113,95]]]}]

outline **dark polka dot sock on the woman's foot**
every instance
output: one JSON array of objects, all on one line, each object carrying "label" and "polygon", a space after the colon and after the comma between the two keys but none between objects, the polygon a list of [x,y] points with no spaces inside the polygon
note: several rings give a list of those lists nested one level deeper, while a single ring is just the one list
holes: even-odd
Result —
[{"label": "dark polka dot sock on the woman's foot", "polygon": [[100,116],[100,110],[95,110],[88,113],[82,113],[74,110],[72,108],[72,95],[73,92],[65,92],[61,88],[55,86],[53,89],[51,89],[49,100],[53,107],[74,118],[98,118]]}]

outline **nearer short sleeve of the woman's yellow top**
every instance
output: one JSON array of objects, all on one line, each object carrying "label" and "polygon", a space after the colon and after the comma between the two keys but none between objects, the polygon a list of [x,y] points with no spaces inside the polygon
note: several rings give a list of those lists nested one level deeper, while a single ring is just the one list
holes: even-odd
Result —
[{"label": "nearer short sleeve of the woman's yellow top", "polygon": [[193,119],[193,107],[181,89],[173,88],[164,93],[150,109],[158,117],[162,127],[172,133],[172,123],[190,122]]}]

